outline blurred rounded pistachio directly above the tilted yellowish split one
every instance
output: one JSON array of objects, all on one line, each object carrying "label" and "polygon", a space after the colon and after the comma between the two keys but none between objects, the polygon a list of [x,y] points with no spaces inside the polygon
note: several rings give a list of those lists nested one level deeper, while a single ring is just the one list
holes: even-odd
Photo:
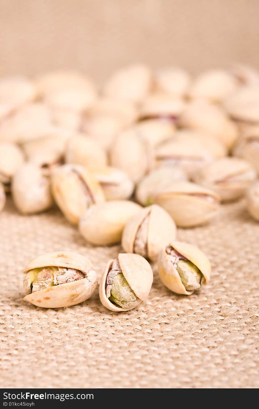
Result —
[{"label": "blurred rounded pistachio directly above the tilted yellowish split one", "polygon": [[104,149],[86,135],[75,135],[67,144],[65,161],[85,166],[90,171],[107,164]]}]

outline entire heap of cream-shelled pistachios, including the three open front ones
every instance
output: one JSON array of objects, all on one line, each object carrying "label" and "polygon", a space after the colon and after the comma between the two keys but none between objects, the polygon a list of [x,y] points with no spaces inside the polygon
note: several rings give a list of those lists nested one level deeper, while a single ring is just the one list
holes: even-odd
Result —
[{"label": "entire heap of cream-shelled pistachios, including the three open front ones", "polygon": [[[122,243],[99,294],[113,311],[164,285],[191,294],[210,264],[176,241],[176,226],[214,218],[245,196],[259,221],[259,72],[244,65],[198,76],[132,65],[97,88],[55,71],[0,79],[0,211],[11,194],[24,215],[55,204],[88,243]],[[148,262],[149,261],[149,262]],[[25,300],[47,308],[85,301],[97,286],[88,258],[48,253],[25,269]]]}]

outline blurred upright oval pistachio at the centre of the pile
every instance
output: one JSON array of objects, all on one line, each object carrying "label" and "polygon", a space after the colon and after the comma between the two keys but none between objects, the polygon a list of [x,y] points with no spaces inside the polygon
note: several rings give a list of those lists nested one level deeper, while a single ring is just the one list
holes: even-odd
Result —
[{"label": "blurred upright oval pistachio at the centre of the pile", "polygon": [[153,147],[133,129],[120,133],[110,150],[110,162],[138,182],[154,165]]}]

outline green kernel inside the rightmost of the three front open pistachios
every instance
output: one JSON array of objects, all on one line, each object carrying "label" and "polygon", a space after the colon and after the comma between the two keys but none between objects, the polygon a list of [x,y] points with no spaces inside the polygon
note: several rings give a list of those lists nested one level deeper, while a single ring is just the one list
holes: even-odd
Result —
[{"label": "green kernel inside the rightmost of the three front open pistachios", "polygon": [[180,259],[177,263],[177,271],[185,290],[193,291],[200,288],[203,275],[194,263]]}]

